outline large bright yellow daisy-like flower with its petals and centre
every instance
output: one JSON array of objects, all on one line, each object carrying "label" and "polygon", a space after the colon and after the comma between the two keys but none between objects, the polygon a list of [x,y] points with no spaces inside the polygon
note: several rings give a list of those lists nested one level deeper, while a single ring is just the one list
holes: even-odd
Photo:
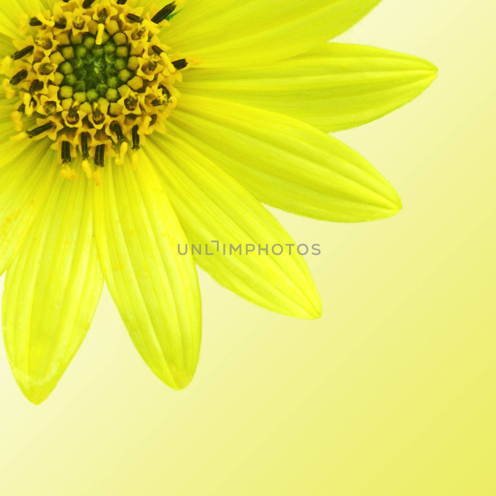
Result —
[{"label": "large bright yellow daisy-like flower with its petals and centre", "polygon": [[[31,402],[60,380],[104,280],[144,361],[174,389],[198,360],[195,263],[257,305],[320,316],[304,257],[261,203],[336,222],[401,208],[372,165],[325,134],[394,110],[435,78],[415,57],[326,43],[376,3],[2,9],[2,331]],[[211,255],[178,249],[214,241]]]}]

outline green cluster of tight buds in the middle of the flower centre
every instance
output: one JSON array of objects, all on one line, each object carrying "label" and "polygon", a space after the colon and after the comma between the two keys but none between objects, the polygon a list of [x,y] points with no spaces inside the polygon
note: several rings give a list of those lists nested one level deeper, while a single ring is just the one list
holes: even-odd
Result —
[{"label": "green cluster of tight buds in the middle of the flower centre", "polygon": [[101,97],[116,102],[121,97],[117,88],[133,78],[138,67],[137,58],[129,57],[130,45],[122,32],[111,38],[105,31],[101,45],[92,34],[78,33],[59,51],[65,59],[57,69],[64,75],[60,97],[80,103]]}]

